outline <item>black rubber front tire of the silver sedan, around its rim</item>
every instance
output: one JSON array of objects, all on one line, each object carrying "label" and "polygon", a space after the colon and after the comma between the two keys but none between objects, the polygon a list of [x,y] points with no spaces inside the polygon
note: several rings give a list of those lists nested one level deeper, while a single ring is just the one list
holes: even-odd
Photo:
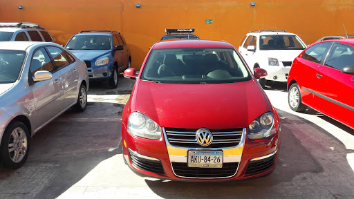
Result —
[{"label": "black rubber front tire of the silver sedan, around its rim", "polygon": [[[14,131],[16,128],[23,129],[27,137],[27,147],[24,154],[24,158],[22,158],[22,160],[19,162],[14,162],[11,160],[9,154],[9,146],[8,146],[10,141],[10,135],[12,131]],[[26,162],[29,152],[30,152],[30,132],[28,131],[27,126],[23,122],[19,122],[19,121],[11,122],[6,128],[6,130],[4,131],[3,138],[1,140],[0,157],[3,163],[3,167],[8,169],[18,169]]]}]

